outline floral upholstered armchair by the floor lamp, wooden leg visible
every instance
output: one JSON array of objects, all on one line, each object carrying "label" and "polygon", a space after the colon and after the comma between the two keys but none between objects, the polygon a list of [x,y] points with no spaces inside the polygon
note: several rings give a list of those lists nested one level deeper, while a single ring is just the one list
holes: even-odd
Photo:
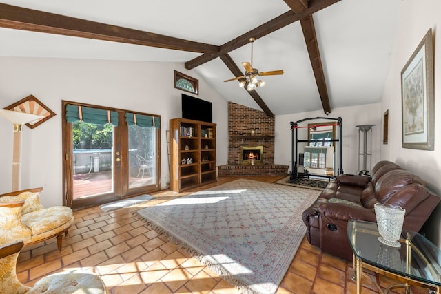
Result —
[{"label": "floral upholstered armchair by the floor lamp, wooden leg visible", "polygon": [[63,234],[74,222],[70,207],[43,208],[39,194],[43,188],[0,195],[0,245],[23,241],[25,246],[57,237],[61,251]]}]

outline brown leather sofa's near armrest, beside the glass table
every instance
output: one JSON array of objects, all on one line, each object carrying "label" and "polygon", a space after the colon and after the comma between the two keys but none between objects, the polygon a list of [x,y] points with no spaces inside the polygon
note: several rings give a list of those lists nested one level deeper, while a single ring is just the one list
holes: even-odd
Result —
[{"label": "brown leather sofa's near armrest, beside the glass table", "polygon": [[375,211],[348,204],[327,202],[318,208],[320,215],[334,220],[366,220],[376,222]]}]

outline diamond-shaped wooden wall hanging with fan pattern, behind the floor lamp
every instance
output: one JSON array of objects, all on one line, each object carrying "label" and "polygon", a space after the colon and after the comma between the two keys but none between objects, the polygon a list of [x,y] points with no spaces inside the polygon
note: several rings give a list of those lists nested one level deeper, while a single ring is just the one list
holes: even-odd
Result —
[{"label": "diamond-shaped wooden wall hanging with fan pattern, behind the floor lamp", "polygon": [[4,109],[14,110],[15,112],[23,112],[25,114],[37,114],[39,116],[43,116],[43,118],[39,120],[26,124],[31,129],[38,127],[49,118],[52,118],[52,116],[55,116],[55,112],[52,112],[52,110],[41,103],[41,101],[39,101],[33,95],[29,95],[28,97],[21,99],[21,101],[11,104]]}]

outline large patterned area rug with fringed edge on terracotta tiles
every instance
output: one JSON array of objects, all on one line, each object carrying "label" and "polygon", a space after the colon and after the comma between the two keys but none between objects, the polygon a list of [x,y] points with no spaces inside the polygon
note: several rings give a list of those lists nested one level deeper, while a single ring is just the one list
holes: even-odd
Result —
[{"label": "large patterned area rug with fringed edge on terracotta tiles", "polygon": [[318,191],[235,180],[136,212],[243,293],[276,293]]}]

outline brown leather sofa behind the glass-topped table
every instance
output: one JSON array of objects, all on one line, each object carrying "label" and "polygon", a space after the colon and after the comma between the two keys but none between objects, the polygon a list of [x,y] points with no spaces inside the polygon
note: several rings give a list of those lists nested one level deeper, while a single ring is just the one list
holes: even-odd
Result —
[{"label": "brown leather sofa behind the glass-topped table", "polygon": [[371,177],[343,174],[320,193],[314,204],[303,212],[309,243],[323,252],[352,260],[347,241],[347,221],[376,222],[376,202],[406,209],[403,228],[420,231],[440,197],[430,193],[425,182],[394,162],[380,161]]}]

